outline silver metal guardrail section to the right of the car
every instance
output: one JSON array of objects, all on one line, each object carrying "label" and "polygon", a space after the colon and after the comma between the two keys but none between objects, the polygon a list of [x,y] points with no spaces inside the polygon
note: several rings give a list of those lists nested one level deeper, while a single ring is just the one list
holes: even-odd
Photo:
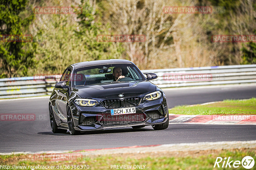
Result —
[{"label": "silver metal guardrail section to the right of the car", "polygon": [[158,78],[151,82],[160,88],[256,82],[256,64],[170,68],[143,72],[156,73]]}]

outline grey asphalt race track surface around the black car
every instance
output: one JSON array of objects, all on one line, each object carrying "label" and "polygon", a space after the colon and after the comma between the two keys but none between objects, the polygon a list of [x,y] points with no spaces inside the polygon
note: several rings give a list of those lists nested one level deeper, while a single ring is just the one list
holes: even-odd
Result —
[{"label": "grey asphalt race track surface around the black car", "polygon": [[[256,85],[164,91],[169,108],[182,104],[256,97]],[[0,108],[0,114],[33,113],[36,115],[35,121],[0,121],[0,152],[256,140],[255,125],[170,124],[168,129],[162,131],[154,131],[151,126],[146,126],[142,129],[118,128],[91,131],[77,136],[71,136],[68,132],[53,134],[50,129],[47,98],[1,101]]]}]

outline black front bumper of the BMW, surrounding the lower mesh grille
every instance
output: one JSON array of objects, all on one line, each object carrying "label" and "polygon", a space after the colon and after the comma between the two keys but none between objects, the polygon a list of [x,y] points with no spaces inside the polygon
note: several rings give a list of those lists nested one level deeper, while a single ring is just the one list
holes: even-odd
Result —
[{"label": "black front bumper of the BMW, surrounding the lower mesh grille", "polygon": [[163,97],[154,101],[142,101],[135,108],[135,114],[111,116],[111,109],[106,109],[101,104],[93,107],[83,107],[72,103],[71,110],[75,125],[74,129],[77,131],[104,130],[162,124],[168,120],[168,108]]}]

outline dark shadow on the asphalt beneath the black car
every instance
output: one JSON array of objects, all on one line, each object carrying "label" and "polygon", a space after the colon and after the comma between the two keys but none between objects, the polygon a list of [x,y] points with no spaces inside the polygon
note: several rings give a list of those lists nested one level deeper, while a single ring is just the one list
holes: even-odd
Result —
[{"label": "dark shadow on the asphalt beneath the black car", "polygon": [[[95,135],[95,134],[106,134],[106,133],[123,133],[123,132],[140,132],[140,131],[154,131],[154,129],[150,127],[144,127],[144,128],[138,128],[138,129],[133,129],[133,128],[115,128],[115,129],[108,129],[108,130],[94,130],[94,131],[87,131],[87,132],[82,132],[79,135]],[[70,135],[69,132],[67,131],[66,133],[52,133],[52,131],[46,131],[46,132],[38,132],[38,135],[54,135],[54,136],[66,136]]]}]

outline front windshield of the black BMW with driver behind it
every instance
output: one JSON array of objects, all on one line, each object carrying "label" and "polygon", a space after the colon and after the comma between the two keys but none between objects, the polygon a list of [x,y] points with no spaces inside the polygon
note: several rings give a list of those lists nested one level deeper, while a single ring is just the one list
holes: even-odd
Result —
[{"label": "front windshield of the black BMW with driver behind it", "polygon": [[124,78],[121,78],[117,81],[135,81],[135,80],[144,80],[144,76],[141,72],[132,64],[105,64],[98,66],[82,67],[74,71],[75,86],[83,86],[90,84],[99,84],[99,83],[114,83],[116,82],[116,77],[123,75]]}]

